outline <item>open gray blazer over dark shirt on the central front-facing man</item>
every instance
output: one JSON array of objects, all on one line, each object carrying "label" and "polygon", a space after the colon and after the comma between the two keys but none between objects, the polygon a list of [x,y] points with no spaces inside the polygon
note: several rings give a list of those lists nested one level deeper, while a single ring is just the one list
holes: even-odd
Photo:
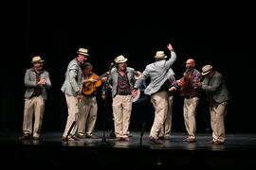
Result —
[{"label": "open gray blazer over dark shirt on the central front-facing man", "polygon": [[[129,84],[130,84],[130,90],[131,90],[131,92],[133,92],[134,84],[136,81],[136,78],[135,78],[136,71],[134,68],[131,68],[131,67],[127,67],[126,71],[127,71],[127,77],[129,80]],[[118,80],[119,80],[118,69],[113,68],[107,78],[107,81],[105,82],[106,83],[105,87],[109,87],[109,84],[112,85],[112,91],[111,91],[112,98],[114,98],[117,94]],[[105,88],[102,88],[102,94],[105,94],[105,93],[106,93]]]}]

